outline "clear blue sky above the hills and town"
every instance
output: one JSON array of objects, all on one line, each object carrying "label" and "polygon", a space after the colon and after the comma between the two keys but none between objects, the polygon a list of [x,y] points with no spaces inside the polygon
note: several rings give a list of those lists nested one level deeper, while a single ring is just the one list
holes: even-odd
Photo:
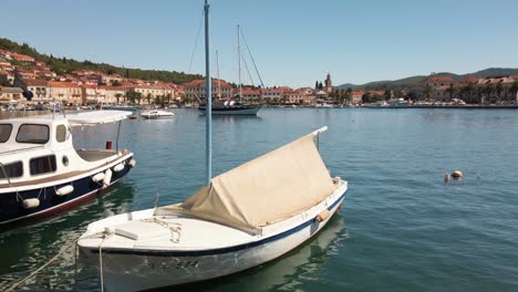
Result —
[{"label": "clear blue sky above the hills and town", "polygon": [[[0,36],[40,52],[184,72],[203,13],[203,0],[2,0],[0,7]],[[221,77],[236,82],[240,24],[267,86],[313,86],[328,71],[339,85],[518,67],[517,11],[516,0],[214,0],[211,48],[220,52]],[[203,34],[191,72],[204,73]]]}]

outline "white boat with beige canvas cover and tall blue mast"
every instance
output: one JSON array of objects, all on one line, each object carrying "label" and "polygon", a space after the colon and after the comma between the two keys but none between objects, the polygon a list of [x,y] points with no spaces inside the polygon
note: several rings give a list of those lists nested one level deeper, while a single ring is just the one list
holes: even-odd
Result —
[{"label": "white boat with beige canvas cover and tall blue mast", "polygon": [[206,186],[180,204],[93,222],[77,241],[102,288],[149,290],[262,264],[315,236],[343,202],[348,182],[330,176],[313,140],[327,127],[211,178],[210,103]]}]

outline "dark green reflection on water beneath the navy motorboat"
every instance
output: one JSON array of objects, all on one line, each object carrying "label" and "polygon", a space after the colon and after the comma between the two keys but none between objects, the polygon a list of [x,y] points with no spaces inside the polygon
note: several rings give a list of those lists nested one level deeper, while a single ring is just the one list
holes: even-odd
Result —
[{"label": "dark green reflection on water beneath the navy motorboat", "polygon": [[[1,232],[0,290],[20,281],[69,247],[84,232],[90,222],[131,209],[134,197],[134,186],[120,181],[108,188],[106,194],[79,208],[61,212],[35,225]],[[83,271],[83,274],[92,272]],[[73,279],[74,248],[70,248],[23,286],[31,291],[70,289]]]}]

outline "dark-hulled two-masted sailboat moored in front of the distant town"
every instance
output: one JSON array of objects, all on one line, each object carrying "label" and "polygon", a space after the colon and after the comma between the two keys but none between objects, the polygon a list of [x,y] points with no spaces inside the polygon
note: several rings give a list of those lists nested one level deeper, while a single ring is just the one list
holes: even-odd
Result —
[{"label": "dark-hulled two-masted sailboat moored in front of the distant town", "polygon": [[[242,83],[241,83],[241,44],[240,44],[240,34],[241,31],[239,25],[238,30],[238,72],[239,72],[239,93],[234,98],[221,100],[221,80],[219,79],[219,58],[218,62],[218,100],[213,103],[213,115],[257,115],[259,109],[261,109],[261,104],[249,104],[242,102]],[[255,63],[253,63],[255,64]],[[257,71],[257,67],[256,67]],[[207,95],[208,96],[208,95]],[[237,101],[236,101],[237,100]],[[198,109],[205,114],[206,105],[201,104],[198,106]]]}]

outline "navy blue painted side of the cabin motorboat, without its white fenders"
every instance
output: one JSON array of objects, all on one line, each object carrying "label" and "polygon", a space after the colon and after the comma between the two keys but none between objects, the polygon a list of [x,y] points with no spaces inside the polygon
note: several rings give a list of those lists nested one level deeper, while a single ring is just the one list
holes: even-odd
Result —
[{"label": "navy blue painted side of the cabin motorboat, without its white fenders", "polygon": [[[112,180],[110,181],[110,184],[121,179],[130,171],[131,167],[127,163],[131,159],[132,157],[125,160],[126,165],[123,170],[115,173],[112,169]],[[103,171],[105,171],[105,169]],[[66,196],[55,195],[56,189],[68,185],[72,185],[74,187],[74,190],[71,194]],[[40,215],[43,216],[46,212],[51,212],[54,211],[54,209],[59,209],[62,205],[63,207],[65,207],[64,205],[66,202],[70,202],[74,199],[80,199],[81,197],[87,194],[101,191],[102,188],[102,181],[99,184],[94,182],[92,180],[92,176],[86,176],[77,180],[69,181],[66,184],[55,185],[55,187],[52,186],[19,191],[19,196],[17,196],[17,192],[0,194],[0,226],[3,223],[14,223],[23,219],[32,218],[31,215],[33,215],[34,217]],[[25,209],[23,208],[20,198],[39,198],[40,206],[33,209]],[[51,208],[52,210],[50,210]],[[37,212],[38,215],[35,215]]]}]

